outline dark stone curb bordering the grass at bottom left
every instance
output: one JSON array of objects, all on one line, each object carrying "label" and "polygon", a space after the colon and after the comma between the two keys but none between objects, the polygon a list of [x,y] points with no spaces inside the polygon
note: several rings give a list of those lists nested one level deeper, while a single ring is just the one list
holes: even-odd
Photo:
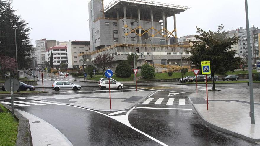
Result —
[{"label": "dark stone curb bordering the grass at bottom left", "polygon": [[[10,106],[3,103],[1,104],[11,112],[12,109]],[[32,146],[32,135],[29,120],[20,114],[16,109],[14,109],[14,118],[19,121],[16,145]]]}]

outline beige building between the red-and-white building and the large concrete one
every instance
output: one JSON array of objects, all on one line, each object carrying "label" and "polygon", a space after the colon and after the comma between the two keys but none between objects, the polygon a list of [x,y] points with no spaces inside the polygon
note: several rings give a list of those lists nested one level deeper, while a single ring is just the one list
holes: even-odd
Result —
[{"label": "beige building between the red-and-white building and the large concrete one", "polygon": [[79,68],[79,54],[90,53],[89,41],[69,41],[68,48],[68,66],[69,68]]}]

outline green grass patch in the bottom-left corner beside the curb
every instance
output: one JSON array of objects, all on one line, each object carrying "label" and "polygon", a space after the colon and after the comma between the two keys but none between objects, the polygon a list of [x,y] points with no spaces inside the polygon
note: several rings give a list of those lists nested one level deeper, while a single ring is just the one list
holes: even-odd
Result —
[{"label": "green grass patch in the bottom-left corner beside the curb", "polygon": [[0,108],[4,111],[0,113],[0,145],[14,146],[19,122],[1,104]]}]

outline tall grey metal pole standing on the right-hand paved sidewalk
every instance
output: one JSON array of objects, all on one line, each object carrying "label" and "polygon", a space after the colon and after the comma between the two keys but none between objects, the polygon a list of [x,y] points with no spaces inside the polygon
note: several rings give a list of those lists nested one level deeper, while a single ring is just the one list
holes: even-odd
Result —
[{"label": "tall grey metal pole standing on the right-hand paved sidewalk", "polygon": [[245,0],[245,8],[246,8],[246,35],[247,35],[248,78],[249,78],[249,96],[250,96],[250,113],[249,113],[249,116],[250,116],[251,124],[255,124],[254,91],[253,91],[253,77],[252,77],[252,58],[251,58],[251,48],[250,48],[250,34],[249,34],[247,0]]}]

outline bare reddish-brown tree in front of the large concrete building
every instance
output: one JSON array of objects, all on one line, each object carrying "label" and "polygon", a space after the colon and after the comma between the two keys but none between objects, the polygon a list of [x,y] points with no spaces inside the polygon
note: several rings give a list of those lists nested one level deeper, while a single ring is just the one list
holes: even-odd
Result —
[{"label": "bare reddish-brown tree in front of the large concrete building", "polygon": [[93,64],[96,64],[98,68],[102,68],[104,73],[106,68],[111,67],[113,59],[114,56],[110,56],[107,53],[104,55],[98,55],[92,62]]}]

